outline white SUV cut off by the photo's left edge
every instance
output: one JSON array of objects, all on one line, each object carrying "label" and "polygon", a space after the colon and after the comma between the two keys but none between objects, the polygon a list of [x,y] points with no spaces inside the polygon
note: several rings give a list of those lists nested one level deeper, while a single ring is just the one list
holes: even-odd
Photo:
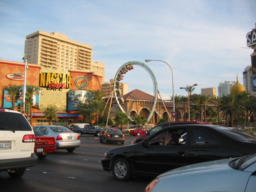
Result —
[{"label": "white SUV cut off by the photo's left edge", "polygon": [[26,118],[11,108],[0,108],[0,172],[21,177],[35,166],[35,135]]}]

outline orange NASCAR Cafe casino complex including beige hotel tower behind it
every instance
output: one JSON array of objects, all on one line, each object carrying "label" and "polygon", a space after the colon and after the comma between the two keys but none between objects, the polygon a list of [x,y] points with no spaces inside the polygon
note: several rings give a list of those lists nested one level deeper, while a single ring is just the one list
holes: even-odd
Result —
[{"label": "orange NASCAR Cafe casino complex including beige hotel tower behind it", "polygon": [[[104,63],[92,62],[92,49],[58,32],[37,31],[26,36],[26,85],[40,88],[33,96],[32,126],[47,124],[42,116],[48,106],[58,110],[59,122],[80,121],[78,103],[86,99],[88,91],[101,89],[104,82]],[[24,62],[0,60],[0,87],[23,87],[24,66]],[[0,92],[0,98],[0,106],[12,106],[6,90]],[[15,106],[21,102],[22,96]]]}]

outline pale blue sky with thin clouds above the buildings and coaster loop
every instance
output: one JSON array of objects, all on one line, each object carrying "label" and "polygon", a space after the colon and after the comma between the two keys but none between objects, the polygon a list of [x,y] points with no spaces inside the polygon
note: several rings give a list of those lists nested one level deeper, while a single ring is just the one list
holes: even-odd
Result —
[{"label": "pale blue sky with thin clouds above the buildings and coaster loop", "polygon": [[[0,0],[0,59],[23,62],[26,35],[59,32],[93,47],[93,62],[105,64],[105,82],[125,63],[146,64],[163,99],[187,95],[198,84],[216,88],[224,81],[243,84],[253,50],[246,34],[255,28],[255,0]],[[161,60],[145,62],[145,59]],[[172,72],[173,79],[172,82]],[[154,93],[141,66],[121,82]]]}]

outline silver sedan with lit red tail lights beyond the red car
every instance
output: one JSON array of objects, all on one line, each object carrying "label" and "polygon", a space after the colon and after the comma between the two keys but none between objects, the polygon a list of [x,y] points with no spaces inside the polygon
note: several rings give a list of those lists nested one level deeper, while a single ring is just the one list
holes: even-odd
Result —
[{"label": "silver sedan with lit red tail lights beyond the red car", "polygon": [[44,136],[54,137],[57,149],[66,149],[68,152],[73,152],[76,147],[80,146],[79,135],[64,126],[41,125],[33,129]]}]

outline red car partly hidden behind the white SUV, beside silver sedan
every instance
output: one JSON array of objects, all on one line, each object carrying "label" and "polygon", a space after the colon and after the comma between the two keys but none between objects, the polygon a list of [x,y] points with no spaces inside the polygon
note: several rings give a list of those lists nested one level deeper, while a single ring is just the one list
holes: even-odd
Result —
[{"label": "red car partly hidden behind the white SUV, beside silver sedan", "polygon": [[38,158],[45,158],[48,153],[52,153],[57,149],[54,137],[43,136],[37,130],[34,130],[34,133],[36,136],[34,153]]}]

